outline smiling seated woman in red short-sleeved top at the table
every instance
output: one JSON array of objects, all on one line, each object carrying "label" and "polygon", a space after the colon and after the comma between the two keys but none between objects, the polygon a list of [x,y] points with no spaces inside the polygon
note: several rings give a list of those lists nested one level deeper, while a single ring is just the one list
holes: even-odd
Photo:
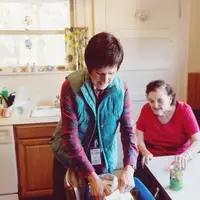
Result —
[{"label": "smiling seated woman in red short-sleeved top at the table", "polygon": [[175,156],[185,168],[200,151],[200,132],[193,111],[186,103],[176,100],[172,87],[163,80],[146,87],[146,103],[136,123],[138,148],[142,164],[153,156]]}]

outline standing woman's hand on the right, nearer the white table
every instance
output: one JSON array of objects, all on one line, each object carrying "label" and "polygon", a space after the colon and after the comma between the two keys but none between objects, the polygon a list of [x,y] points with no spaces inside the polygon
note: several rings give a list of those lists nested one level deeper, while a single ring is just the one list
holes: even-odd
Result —
[{"label": "standing woman's hand on the right, nearer the white table", "polygon": [[118,189],[121,193],[129,192],[135,187],[133,175],[133,167],[131,165],[125,166],[118,178]]}]

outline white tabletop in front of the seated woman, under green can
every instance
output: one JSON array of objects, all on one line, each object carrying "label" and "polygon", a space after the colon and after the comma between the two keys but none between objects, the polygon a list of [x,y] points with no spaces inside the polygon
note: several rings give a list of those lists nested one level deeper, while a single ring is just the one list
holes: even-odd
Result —
[{"label": "white tabletop in front of the seated woman, under green can", "polygon": [[174,191],[169,188],[169,166],[173,160],[174,156],[154,157],[147,165],[147,168],[172,200],[199,199],[200,154],[189,161],[184,171],[184,186],[180,191]]}]

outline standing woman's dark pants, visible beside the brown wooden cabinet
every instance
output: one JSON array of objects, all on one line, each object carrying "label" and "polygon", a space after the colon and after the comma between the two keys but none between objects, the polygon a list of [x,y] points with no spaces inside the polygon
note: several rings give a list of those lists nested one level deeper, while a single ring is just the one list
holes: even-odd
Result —
[{"label": "standing woman's dark pants, visible beside the brown wooden cabinet", "polygon": [[53,200],[67,200],[64,177],[67,169],[54,157],[53,161]]}]

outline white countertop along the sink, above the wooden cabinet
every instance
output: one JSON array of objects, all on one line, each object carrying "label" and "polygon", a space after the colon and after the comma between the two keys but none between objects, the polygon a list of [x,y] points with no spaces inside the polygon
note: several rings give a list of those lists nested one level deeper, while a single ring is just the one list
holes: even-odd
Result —
[{"label": "white countertop along the sink, above the wooden cabinet", "polygon": [[10,117],[3,118],[0,116],[0,126],[6,125],[16,125],[16,124],[33,124],[33,123],[50,123],[50,122],[58,122],[60,120],[60,116],[48,116],[48,117]]}]

